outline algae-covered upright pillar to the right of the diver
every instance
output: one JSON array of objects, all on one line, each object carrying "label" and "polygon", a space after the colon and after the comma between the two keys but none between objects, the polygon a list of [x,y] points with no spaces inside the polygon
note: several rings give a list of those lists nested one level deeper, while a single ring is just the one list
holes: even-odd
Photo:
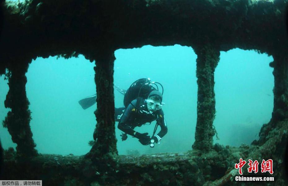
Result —
[{"label": "algae-covered upright pillar to the right of the diver", "polygon": [[215,118],[214,71],[219,61],[220,52],[212,45],[195,47],[197,54],[196,76],[198,84],[197,123],[193,149],[210,150],[212,148],[213,120]]}]

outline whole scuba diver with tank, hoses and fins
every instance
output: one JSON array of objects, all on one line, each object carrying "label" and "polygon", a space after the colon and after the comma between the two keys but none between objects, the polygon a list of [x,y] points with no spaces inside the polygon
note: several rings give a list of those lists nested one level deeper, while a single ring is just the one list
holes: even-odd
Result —
[{"label": "whole scuba diver with tank, hoses and fins", "polygon": [[[159,91],[158,85],[162,88]],[[155,143],[159,143],[161,138],[167,133],[167,124],[164,118],[162,106],[163,86],[159,82],[152,82],[149,78],[141,78],[131,84],[126,90],[116,87],[116,90],[124,95],[124,107],[115,108],[115,121],[119,121],[118,129],[123,131],[122,141],[127,139],[127,134],[135,137],[142,145],[154,147]],[[83,109],[91,107],[96,103],[96,95],[81,99],[79,104]],[[156,120],[156,125],[152,137],[148,133],[138,133],[135,127],[140,127],[146,123]],[[148,124],[148,125],[150,125]],[[161,130],[156,133],[158,125]]]}]

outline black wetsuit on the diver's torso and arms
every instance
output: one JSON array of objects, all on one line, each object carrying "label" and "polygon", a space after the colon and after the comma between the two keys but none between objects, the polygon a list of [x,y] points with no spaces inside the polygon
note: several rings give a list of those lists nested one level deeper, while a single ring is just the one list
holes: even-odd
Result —
[{"label": "black wetsuit on the diver's torso and arms", "polygon": [[[136,106],[137,99],[134,99],[131,103]],[[153,112],[153,114],[146,114],[145,112],[141,113],[137,108],[141,107],[142,110],[149,112],[147,104],[143,104],[144,106],[137,105],[137,108],[135,108],[131,103],[125,109],[119,121],[118,129],[135,137],[136,131],[133,130],[135,127],[140,127],[145,123],[151,123],[158,118],[158,125],[160,125],[161,130],[157,135],[162,138],[167,133],[168,129],[162,109]]]}]

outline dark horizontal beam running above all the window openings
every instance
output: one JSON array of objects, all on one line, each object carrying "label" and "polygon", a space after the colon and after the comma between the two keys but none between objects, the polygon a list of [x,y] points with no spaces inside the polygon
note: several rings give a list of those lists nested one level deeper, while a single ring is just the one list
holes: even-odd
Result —
[{"label": "dark horizontal beam running above all the window openings", "polygon": [[91,44],[99,48],[106,43],[114,49],[147,44],[192,46],[199,44],[199,38],[213,40],[225,51],[238,47],[268,54],[284,52],[288,49],[287,40],[283,39],[287,3],[286,0],[30,0],[20,4],[7,1],[0,57],[5,61],[14,53],[38,57],[81,53]]}]

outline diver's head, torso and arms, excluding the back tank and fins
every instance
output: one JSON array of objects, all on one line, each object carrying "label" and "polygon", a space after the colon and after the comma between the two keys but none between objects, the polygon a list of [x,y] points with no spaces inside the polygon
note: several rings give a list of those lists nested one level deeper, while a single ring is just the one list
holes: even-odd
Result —
[{"label": "diver's head, torso and arms, excluding the back tank and fins", "polygon": [[[124,132],[124,134],[122,133],[121,135],[122,141],[126,140],[126,134],[129,134],[138,138],[142,145],[149,145],[153,142],[154,146],[154,142],[159,143],[168,131],[164,113],[161,109],[162,105],[162,94],[157,90],[151,91],[148,99],[137,98],[131,101],[122,114],[118,124],[118,129]],[[117,109],[115,111],[119,112]],[[161,131],[156,135],[153,134],[154,136],[152,136],[152,138],[148,136],[148,133],[138,133],[134,130],[135,127],[140,127],[145,123],[151,123],[154,120],[157,120],[156,126],[160,125]],[[153,146],[151,145],[151,147]]]}]

